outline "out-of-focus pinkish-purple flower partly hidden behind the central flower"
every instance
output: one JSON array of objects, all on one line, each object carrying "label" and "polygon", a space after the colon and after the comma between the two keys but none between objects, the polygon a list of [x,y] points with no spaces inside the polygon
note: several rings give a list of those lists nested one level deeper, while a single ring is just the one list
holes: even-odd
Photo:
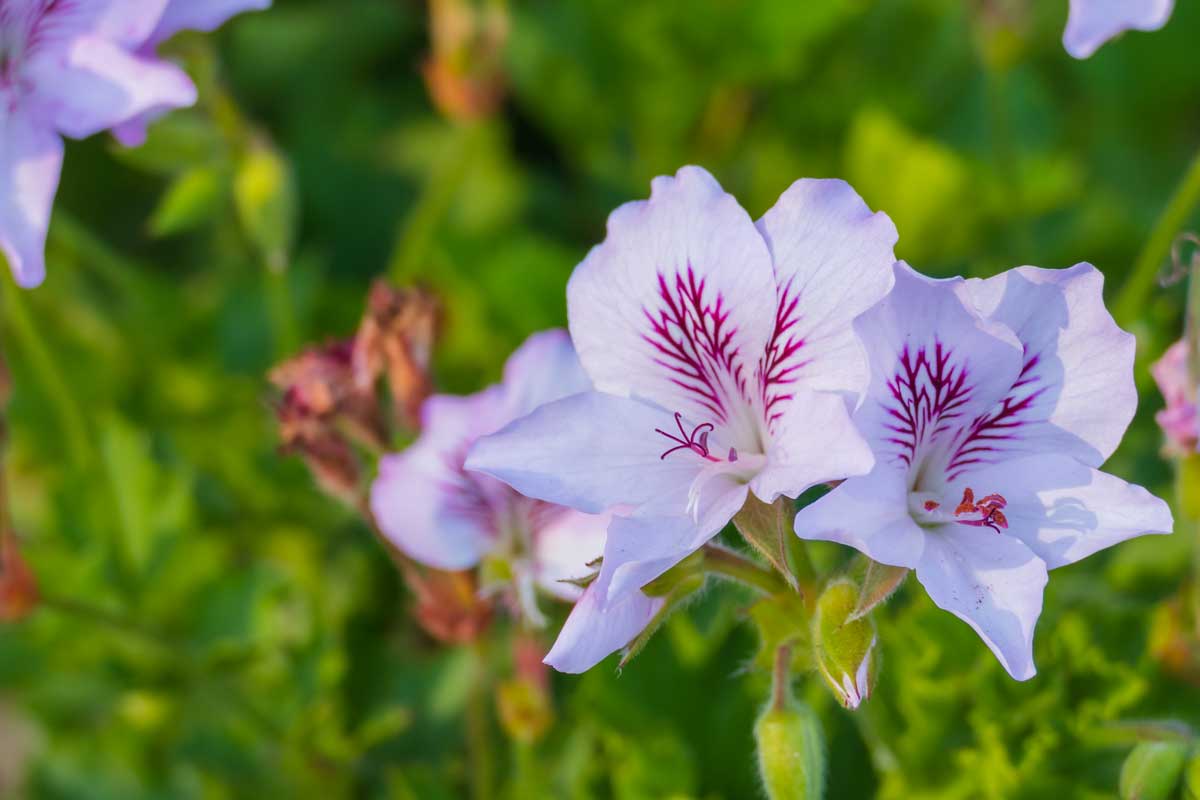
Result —
[{"label": "out-of-focus pinkish-purple flower partly hidden behind the central flower", "polygon": [[480,437],[589,387],[565,331],[547,331],[512,354],[502,384],[468,397],[430,397],[421,435],[380,461],[371,487],[371,511],[383,534],[408,557],[439,570],[466,570],[485,559],[503,563],[520,610],[535,624],[541,621],[535,588],[578,599],[582,589],[568,582],[593,572],[588,564],[604,547],[607,515],[522,497],[468,473],[463,462]]}]

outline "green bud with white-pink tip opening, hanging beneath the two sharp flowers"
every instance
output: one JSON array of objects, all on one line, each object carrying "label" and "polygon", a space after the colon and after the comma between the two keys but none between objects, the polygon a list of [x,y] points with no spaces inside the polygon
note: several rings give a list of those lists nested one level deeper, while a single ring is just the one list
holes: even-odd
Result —
[{"label": "green bud with white-pink tip opening, hanging beneath the two sharp flowers", "polygon": [[870,697],[875,681],[875,625],[869,618],[851,619],[857,607],[858,588],[835,581],[817,600],[812,618],[817,668],[847,709]]}]

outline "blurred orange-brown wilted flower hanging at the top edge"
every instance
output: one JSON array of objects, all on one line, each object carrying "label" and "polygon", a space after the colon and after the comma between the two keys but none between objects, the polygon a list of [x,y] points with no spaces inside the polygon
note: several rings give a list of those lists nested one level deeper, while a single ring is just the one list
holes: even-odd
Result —
[{"label": "blurred orange-brown wilted flower hanging at the top edge", "polygon": [[433,53],[424,66],[433,103],[454,120],[478,120],[504,100],[504,46],[509,16],[503,6],[472,0],[430,0]]}]

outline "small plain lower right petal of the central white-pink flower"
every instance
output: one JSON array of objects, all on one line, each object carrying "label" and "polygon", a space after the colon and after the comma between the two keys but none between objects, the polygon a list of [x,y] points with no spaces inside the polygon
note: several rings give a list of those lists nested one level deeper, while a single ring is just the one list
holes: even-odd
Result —
[{"label": "small plain lower right petal of the central white-pink flower", "polygon": [[767,467],[750,482],[763,503],[774,503],[781,494],[798,497],[816,483],[865,475],[875,465],[875,456],[841,397],[792,393],[787,410],[775,423]]}]

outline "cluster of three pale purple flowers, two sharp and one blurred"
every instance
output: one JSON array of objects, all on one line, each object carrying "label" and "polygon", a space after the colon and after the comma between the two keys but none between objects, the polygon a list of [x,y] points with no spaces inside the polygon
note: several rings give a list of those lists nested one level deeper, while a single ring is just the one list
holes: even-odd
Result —
[{"label": "cluster of three pale purple flowers, two sharp and one blurred", "polygon": [[797,181],[755,222],[703,169],[655,179],[575,270],[570,336],[425,404],[371,491],[383,531],[437,567],[510,565],[534,622],[536,587],[575,600],[546,662],[582,672],[748,503],[832,485],[799,537],[913,570],[1032,676],[1048,571],[1172,528],[1098,470],[1136,405],[1134,341],[1088,264],[932,279],[896,239],[838,180]]}]

